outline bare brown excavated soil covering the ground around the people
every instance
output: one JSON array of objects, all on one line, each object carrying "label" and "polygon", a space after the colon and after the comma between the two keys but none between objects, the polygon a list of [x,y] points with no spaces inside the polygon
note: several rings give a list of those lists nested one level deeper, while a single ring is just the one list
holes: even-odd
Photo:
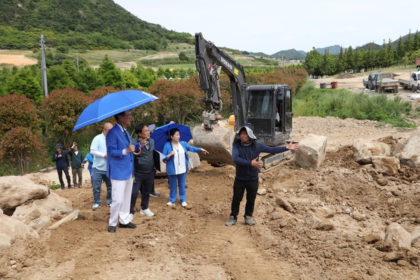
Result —
[{"label": "bare brown excavated soil covering the ground around the people", "polygon": [[[244,224],[245,199],[238,223],[224,225],[230,214],[232,166],[202,162],[189,172],[186,209],[179,202],[167,207],[167,179],[155,179],[162,194],[151,197],[155,216],[137,212],[137,229],[117,228],[116,233],[106,231],[105,205],[92,211],[92,189],[85,180],[80,189],[53,190],[80,209],[79,218],[44,230],[40,239],[15,239],[0,253],[1,269],[8,272],[0,279],[419,279],[419,248],[403,252],[398,262],[386,261],[388,252],[371,240],[384,239],[393,222],[409,232],[419,226],[420,170],[402,166],[397,176],[384,178],[370,165],[354,162],[351,152],[358,138],[384,141],[393,150],[413,130],[367,120],[293,121],[293,141],[307,134],[328,138],[325,161],[321,167],[301,169],[290,160],[261,173],[260,189],[267,194],[257,197],[256,225]],[[57,181],[55,172],[48,176]],[[276,205],[276,197],[290,202],[294,211]],[[335,211],[328,218],[333,230],[314,230],[304,223],[308,211],[321,208]]]}]

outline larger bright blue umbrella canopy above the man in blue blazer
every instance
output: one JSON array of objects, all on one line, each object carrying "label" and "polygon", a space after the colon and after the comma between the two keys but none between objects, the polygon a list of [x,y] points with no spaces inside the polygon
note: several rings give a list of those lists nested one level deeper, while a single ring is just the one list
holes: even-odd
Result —
[{"label": "larger bright blue umbrella canopy above the man in blue blazer", "polygon": [[92,125],[92,123],[98,123],[123,111],[153,102],[156,99],[158,97],[155,97],[155,95],[141,90],[123,90],[106,94],[83,110],[73,131]]}]

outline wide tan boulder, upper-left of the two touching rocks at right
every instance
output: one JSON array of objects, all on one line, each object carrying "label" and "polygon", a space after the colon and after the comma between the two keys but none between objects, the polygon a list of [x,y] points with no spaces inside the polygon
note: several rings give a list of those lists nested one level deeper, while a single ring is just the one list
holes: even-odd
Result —
[{"label": "wide tan boulder, upper-left of the two touching rocks at right", "polygon": [[391,155],[391,148],[385,143],[356,139],[351,146],[353,159],[360,165],[372,163],[372,156],[387,157]]}]

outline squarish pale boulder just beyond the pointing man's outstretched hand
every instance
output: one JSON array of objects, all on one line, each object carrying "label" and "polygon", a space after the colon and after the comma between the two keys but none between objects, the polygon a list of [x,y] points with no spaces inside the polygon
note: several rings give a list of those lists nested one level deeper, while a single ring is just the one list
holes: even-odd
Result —
[{"label": "squarish pale boulder just beyond the pointing man's outstretched hand", "polygon": [[296,164],[303,168],[319,167],[327,153],[327,137],[308,134],[299,142],[295,152]]}]

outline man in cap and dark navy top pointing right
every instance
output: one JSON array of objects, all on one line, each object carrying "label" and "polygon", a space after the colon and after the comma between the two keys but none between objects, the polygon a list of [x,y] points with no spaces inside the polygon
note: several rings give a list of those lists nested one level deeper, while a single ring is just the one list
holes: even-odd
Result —
[{"label": "man in cap and dark navy top pointing right", "polygon": [[236,164],[236,176],[233,183],[233,197],[229,220],[225,223],[229,227],[235,225],[239,215],[239,206],[246,190],[246,204],[244,219],[246,225],[255,225],[252,214],[258,191],[258,172],[262,162],[258,161],[260,153],[283,153],[287,150],[297,150],[299,145],[290,142],[288,146],[269,147],[256,140],[253,125],[246,123],[235,136],[232,147],[232,159]]}]

